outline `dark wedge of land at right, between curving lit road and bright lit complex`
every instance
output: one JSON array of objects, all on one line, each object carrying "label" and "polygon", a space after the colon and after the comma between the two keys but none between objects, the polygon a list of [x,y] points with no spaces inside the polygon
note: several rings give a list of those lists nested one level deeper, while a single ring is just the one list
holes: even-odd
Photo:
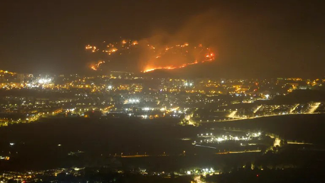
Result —
[{"label": "dark wedge of land at right, between curving lit road and bright lit complex", "polygon": [[298,142],[325,145],[325,114],[292,114],[204,124],[206,128],[260,130]]}]

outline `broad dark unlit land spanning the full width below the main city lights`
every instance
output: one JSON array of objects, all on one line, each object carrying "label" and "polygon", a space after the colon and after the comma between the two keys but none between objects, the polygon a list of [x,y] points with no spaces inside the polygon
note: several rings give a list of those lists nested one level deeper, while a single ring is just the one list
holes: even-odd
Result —
[{"label": "broad dark unlit land spanning the full width below the main city lights", "polygon": [[[206,123],[199,127],[179,126],[173,120],[42,119],[36,123],[0,128],[0,155],[10,156],[9,161],[0,161],[0,170],[102,165],[135,166],[155,170],[177,170],[196,166],[229,169],[251,162],[261,156],[261,153],[214,155],[220,149],[195,147],[191,144],[197,134],[223,134],[229,133],[229,129],[259,130],[278,134],[281,138],[315,143],[321,150],[325,143],[322,135],[324,121],[324,114]],[[122,153],[123,156],[150,156],[121,159],[118,156]],[[161,156],[164,153],[168,156]],[[291,154],[287,153],[287,156]],[[306,156],[299,154],[297,159],[301,157]]]}]

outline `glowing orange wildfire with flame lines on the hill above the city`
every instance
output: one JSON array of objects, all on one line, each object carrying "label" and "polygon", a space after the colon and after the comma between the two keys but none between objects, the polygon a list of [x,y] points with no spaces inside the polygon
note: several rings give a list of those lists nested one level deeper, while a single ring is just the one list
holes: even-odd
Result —
[{"label": "glowing orange wildfire with flame lines on the hill above the city", "polygon": [[[141,72],[149,72],[157,69],[175,69],[183,68],[188,65],[211,62],[215,58],[215,54],[210,48],[206,48],[202,44],[195,46],[189,46],[188,43],[176,44],[176,45],[151,45],[146,43],[145,45],[136,46],[139,44],[137,40],[123,39],[120,42],[106,43],[102,42],[102,46],[87,45],[86,50],[92,53],[100,52],[107,53],[107,56],[121,55],[122,53],[131,53],[136,50],[146,51],[144,55],[147,55],[148,60],[143,60],[143,63],[147,66]],[[143,42],[141,42],[143,43]],[[143,46],[143,47],[141,47]],[[147,47],[148,46],[148,47]],[[146,49],[147,47],[148,49]],[[139,49],[138,49],[139,48]],[[98,53],[95,53],[98,54]],[[175,60],[175,63],[171,63]],[[187,63],[188,60],[194,60],[191,63]],[[179,63],[183,62],[183,63]],[[91,69],[98,70],[104,61],[98,61],[97,64],[91,65]]]}]

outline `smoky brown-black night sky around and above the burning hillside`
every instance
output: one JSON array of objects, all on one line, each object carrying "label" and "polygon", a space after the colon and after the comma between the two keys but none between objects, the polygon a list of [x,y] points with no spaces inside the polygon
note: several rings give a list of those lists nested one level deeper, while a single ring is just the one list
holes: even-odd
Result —
[{"label": "smoky brown-black night sky around and above the burning hillside", "polygon": [[324,76],[324,9],[323,1],[6,1],[0,69],[88,72],[85,45],[165,32],[215,48],[208,69],[224,77]]}]

